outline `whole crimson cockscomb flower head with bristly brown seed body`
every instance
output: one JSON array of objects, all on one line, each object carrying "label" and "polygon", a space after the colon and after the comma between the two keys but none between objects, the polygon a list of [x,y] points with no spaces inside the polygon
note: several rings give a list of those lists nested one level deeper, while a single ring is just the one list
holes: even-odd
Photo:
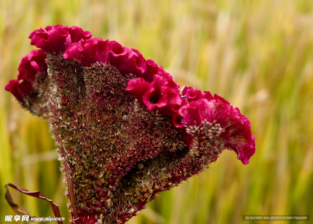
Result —
[{"label": "whole crimson cockscomb flower head with bristly brown seed body", "polygon": [[125,223],[224,149],[244,164],[254,154],[238,108],[192,87],[180,93],[139,51],[78,27],[49,26],[29,38],[41,49],[22,59],[6,89],[50,125],[70,222]]}]

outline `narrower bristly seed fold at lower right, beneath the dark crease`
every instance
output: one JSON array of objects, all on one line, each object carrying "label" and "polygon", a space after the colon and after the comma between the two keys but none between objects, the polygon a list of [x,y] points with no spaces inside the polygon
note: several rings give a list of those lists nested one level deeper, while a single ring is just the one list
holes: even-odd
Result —
[{"label": "narrower bristly seed fold at lower right, beneath the dark crease", "polygon": [[[186,146],[177,151],[163,149],[155,158],[138,163],[122,179],[114,191],[113,201],[117,201],[123,220],[128,220],[129,213],[136,215],[137,211],[144,209],[147,203],[161,196],[160,192],[198,174],[216,159],[223,150],[220,134],[224,130],[220,125],[208,122],[202,127],[190,127],[190,132],[195,134],[201,130],[209,140],[195,141],[189,149]],[[121,191],[125,192],[124,196]]]}]

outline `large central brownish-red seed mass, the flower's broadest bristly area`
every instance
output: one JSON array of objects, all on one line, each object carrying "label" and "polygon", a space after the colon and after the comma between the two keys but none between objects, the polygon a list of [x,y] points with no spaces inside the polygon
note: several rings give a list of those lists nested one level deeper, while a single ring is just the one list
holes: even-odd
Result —
[{"label": "large central brownish-red seed mass, the flower's broadest bristly area", "polygon": [[[77,213],[89,213],[95,219],[103,214],[110,223],[117,219],[114,214],[120,196],[112,196],[123,194],[117,188],[123,176],[137,162],[187,145],[167,119],[148,111],[125,91],[130,74],[122,76],[102,63],[82,68],[60,55],[48,54],[47,64],[49,90],[38,88],[36,82],[33,88],[47,94],[38,94],[38,99],[49,99],[43,116],[56,140],[61,170],[64,160],[71,168]],[[128,198],[134,210],[138,197]]]}]

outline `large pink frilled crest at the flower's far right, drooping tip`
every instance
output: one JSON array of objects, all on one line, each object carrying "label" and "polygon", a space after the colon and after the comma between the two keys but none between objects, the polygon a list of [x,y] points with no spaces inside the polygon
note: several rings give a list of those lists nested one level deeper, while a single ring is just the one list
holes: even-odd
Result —
[{"label": "large pink frilled crest at the flower's far right, drooping tip", "polygon": [[[254,135],[251,135],[248,118],[217,94],[211,98],[212,95],[208,92],[200,94],[190,87],[184,87],[182,94],[188,100],[179,110],[182,123],[185,126],[200,126],[203,121],[220,124],[225,129],[221,134],[225,148],[235,151],[237,158],[243,164],[248,164],[249,158],[255,152]],[[202,96],[199,98],[199,95]]]}]

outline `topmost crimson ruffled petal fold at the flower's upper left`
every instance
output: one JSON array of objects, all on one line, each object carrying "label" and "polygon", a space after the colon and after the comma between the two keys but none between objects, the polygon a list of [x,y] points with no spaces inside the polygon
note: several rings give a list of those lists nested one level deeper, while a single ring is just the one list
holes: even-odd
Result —
[{"label": "topmost crimson ruffled petal fold at the flower's upper left", "polygon": [[89,39],[91,33],[79,27],[67,27],[60,24],[34,30],[29,34],[30,44],[49,53],[64,52],[72,43],[80,39]]}]

